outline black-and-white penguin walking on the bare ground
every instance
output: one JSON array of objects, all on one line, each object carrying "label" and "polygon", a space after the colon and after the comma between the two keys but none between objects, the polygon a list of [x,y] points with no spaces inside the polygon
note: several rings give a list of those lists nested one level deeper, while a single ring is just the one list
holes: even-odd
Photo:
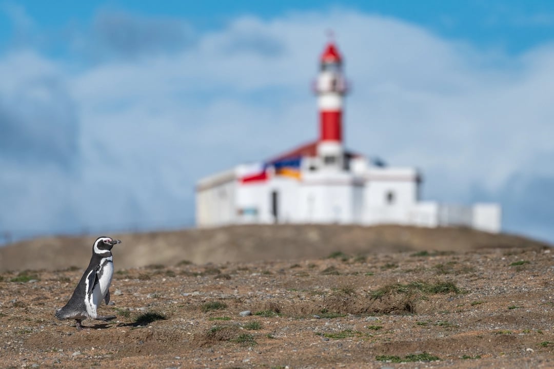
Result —
[{"label": "black-and-white penguin walking on the bare ground", "polygon": [[111,248],[118,243],[121,243],[119,239],[110,237],[96,239],[89,266],[81,276],[81,280],[68,303],[56,310],[55,317],[59,320],[75,319],[79,331],[83,329],[81,321],[85,319],[103,321],[115,319],[115,315],[98,315],[96,310],[102,299],[106,305],[110,302],[110,284],[114,275]]}]

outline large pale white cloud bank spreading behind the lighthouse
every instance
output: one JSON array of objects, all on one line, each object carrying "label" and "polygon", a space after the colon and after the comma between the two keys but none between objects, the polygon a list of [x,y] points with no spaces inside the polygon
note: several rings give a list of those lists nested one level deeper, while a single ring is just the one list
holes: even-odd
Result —
[{"label": "large pale white cloud bank spreading behind the lighthouse", "polygon": [[[135,35],[159,23],[123,18]],[[178,21],[172,27],[186,29]],[[310,83],[330,27],[353,85],[346,104],[348,147],[422,168],[429,198],[503,199],[517,173],[529,180],[520,181],[521,188],[546,191],[533,178],[554,178],[554,170],[537,160],[553,151],[552,47],[515,57],[483,53],[401,20],[334,10],[268,21],[237,18],[218,32],[196,34],[191,43],[164,33],[147,49],[153,53],[135,50],[131,59],[100,58],[80,68],[34,53],[4,55],[0,72],[11,77],[0,98],[12,99],[29,75],[61,81],[64,92],[48,95],[58,112],[45,115],[56,127],[64,121],[59,117],[75,114],[66,121],[76,127],[59,127],[75,135],[79,166],[33,175],[28,166],[12,167],[15,179],[2,196],[27,210],[1,211],[0,223],[20,228],[31,202],[51,210],[33,218],[33,227],[44,230],[63,228],[59,219],[66,219],[67,229],[188,221],[199,177],[315,139]],[[0,124],[0,130],[7,126]],[[532,232],[539,234],[545,222],[537,219]],[[522,230],[516,221],[509,227]]]}]

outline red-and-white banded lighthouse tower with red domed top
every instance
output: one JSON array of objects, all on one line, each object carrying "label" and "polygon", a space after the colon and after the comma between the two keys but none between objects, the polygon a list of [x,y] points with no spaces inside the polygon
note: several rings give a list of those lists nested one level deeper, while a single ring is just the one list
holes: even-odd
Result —
[{"label": "red-and-white banded lighthouse tower with red domed top", "polygon": [[342,145],[342,100],[346,92],[341,55],[335,43],[329,42],[321,54],[320,73],[315,81],[320,119],[317,156],[321,158],[322,169],[327,171],[340,171],[345,168]]}]

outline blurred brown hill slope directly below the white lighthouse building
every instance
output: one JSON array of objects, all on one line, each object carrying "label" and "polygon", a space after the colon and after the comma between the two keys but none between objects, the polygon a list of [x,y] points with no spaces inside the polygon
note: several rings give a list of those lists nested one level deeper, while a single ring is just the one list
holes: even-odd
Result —
[{"label": "blurred brown hill slope directly below the white lighthouse building", "polygon": [[[100,234],[99,234],[100,235]],[[117,268],[320,258],[332,252],[371,254],[410,250],[464,252],[483,248],[543,248],[545,243],[465,228],[399,225],[241,225],[172,232],[108,234],[123,241],[114,249]],[[49,237],[0,248],[0,271],[86,266],[96,235]]]}]

